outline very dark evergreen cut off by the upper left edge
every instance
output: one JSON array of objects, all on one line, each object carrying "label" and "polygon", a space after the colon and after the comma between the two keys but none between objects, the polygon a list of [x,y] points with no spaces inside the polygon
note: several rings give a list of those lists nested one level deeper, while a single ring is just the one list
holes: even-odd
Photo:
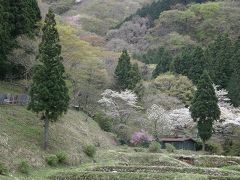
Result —
[{"label": "very dark evergreen cut off by the upper left edge", "polygon": [[3,79],[7,72],[7,54],[12,46],[10,36],[10,6],[9,1],[0,1],[0,79]]}]

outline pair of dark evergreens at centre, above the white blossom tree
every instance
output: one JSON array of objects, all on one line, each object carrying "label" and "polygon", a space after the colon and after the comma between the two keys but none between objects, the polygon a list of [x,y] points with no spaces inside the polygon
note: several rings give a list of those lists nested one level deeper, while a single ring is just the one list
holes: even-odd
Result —
[{"label": "pair of dark evergreens at centre, above the white blossom tree", "polygon": [[115,69],[115,80],[120,90],[134,90],[141,81],[138,64],[131,64],[127,50],[123,50]]}]

